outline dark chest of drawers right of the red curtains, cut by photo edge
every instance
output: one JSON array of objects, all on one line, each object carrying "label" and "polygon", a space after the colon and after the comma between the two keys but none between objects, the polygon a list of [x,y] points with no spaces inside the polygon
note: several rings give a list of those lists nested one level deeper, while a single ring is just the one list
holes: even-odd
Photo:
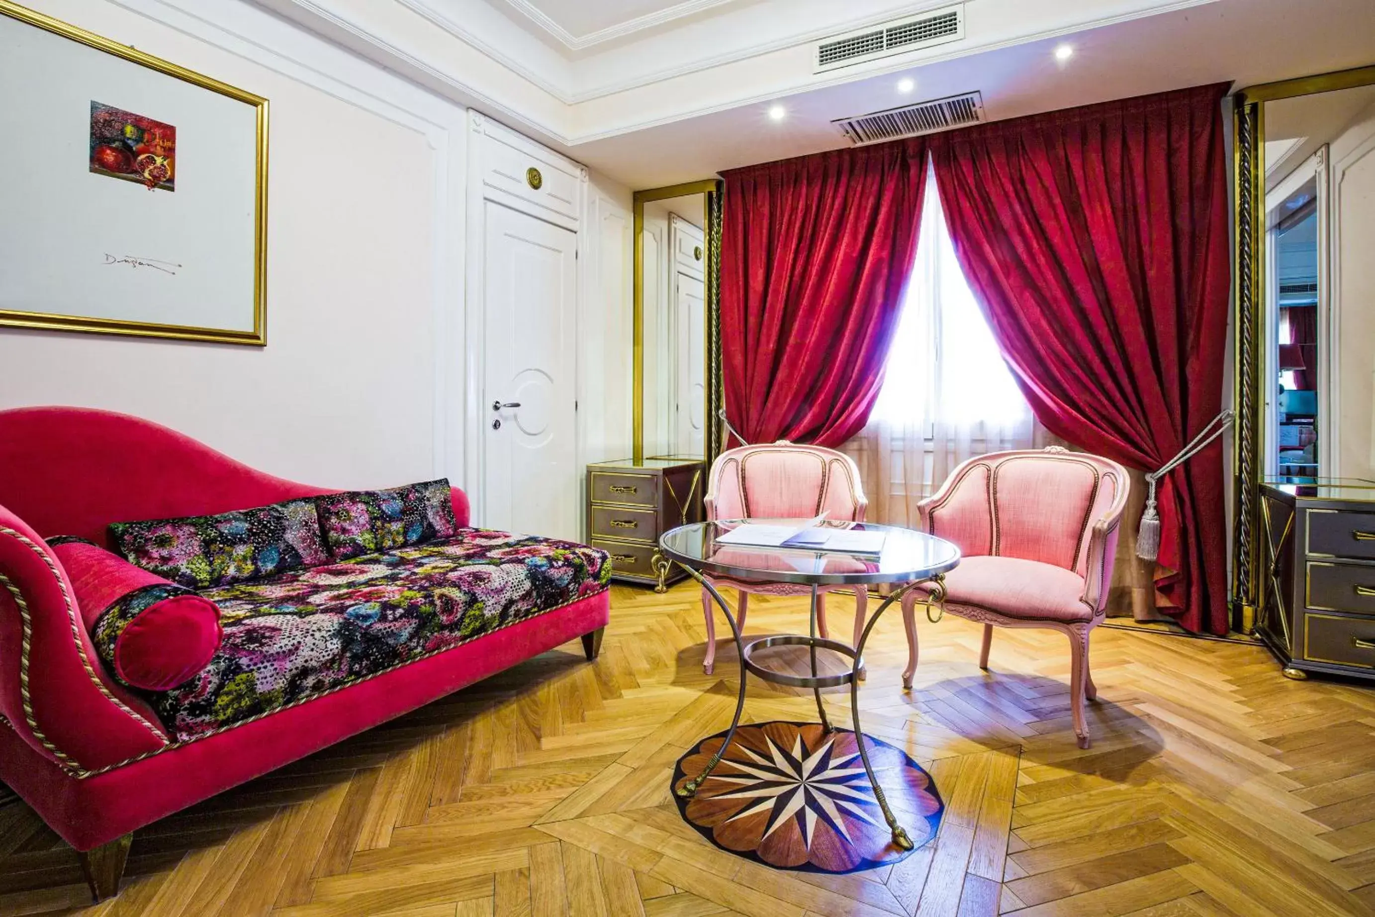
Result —
[{"label": "dark chest of drawers right of the red curtains, cut by photo edge", "polygon": [[1290,678],[1375,681],[1375,481],[1262,484],[1257,632]]}]

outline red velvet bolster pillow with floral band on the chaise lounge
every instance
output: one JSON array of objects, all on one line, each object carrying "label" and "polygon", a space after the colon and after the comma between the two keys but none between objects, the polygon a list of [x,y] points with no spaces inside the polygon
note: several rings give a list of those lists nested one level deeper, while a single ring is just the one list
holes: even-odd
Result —
[{"label": "red velvet bolster pillow with floral band on the chaise lounge", "polygon": [[165,692],[210,663],[223,637],[214,602],[89,542],[54,539],[50,547],[96,653],[121,682]]}]

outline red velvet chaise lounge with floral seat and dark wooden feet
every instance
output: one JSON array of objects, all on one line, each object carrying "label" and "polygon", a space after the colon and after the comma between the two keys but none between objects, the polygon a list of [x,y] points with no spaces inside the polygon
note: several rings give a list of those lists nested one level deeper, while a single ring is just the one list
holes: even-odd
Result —
[{"label": "red velvet chaise lounge with floral seat and dark wooden feet", "polygon": [[[575,637],[597,656],[604,553],[469,528],[443,481],[368,494],[377,513],[404,503],[400,540],[348,495],[147,421],[0,411],[0,780],[80,852],[98,901],[136,828]],[[214,536],[198,555],[165,524],[183,517],[324,535],[238,554]],[[139,536],[172,566],[131,555]]]}]

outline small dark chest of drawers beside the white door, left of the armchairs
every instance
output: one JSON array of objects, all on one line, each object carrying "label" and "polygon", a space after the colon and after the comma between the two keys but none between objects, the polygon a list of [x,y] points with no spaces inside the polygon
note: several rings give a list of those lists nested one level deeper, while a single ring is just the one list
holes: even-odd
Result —
[{"label": "small dark chest of drawers beside the white door, left of the armchairs", "polygon": [[659,536],[701,521],[705,476],[700,459],[587,466],[587,543],[610,554],[612,579],[661,593],[686,576],[659,553]]}]

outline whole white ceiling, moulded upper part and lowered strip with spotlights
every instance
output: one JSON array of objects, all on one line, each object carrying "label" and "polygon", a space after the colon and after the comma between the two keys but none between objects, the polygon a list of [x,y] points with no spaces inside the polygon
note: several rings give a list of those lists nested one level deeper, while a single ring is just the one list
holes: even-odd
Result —
[{"label": "whole white ceiling, moulded upper part and lowered strip with spotlights", "polygon": [[1375,63],[1375,0],[965,0],[961,41],[814,73],[818,38],[950,1],[257,0],[631,188],[847,146],[833,118],[971,89],[1001,120]]}]

